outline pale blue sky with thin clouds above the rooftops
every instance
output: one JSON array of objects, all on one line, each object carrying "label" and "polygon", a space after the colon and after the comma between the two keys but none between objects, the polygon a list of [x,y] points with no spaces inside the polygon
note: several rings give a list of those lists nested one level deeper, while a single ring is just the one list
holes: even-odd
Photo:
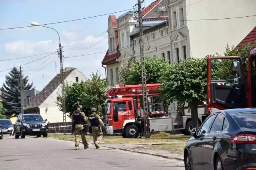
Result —
[{"label": "pale blue sky with thin clouds above the rooftops", "polygon": [[[147,6],[154,0],[145,0]],[[133,8],[137,0],[1,0],[0,28],[28,26],[31,22],[52,23],[97,16]],[[116,17],[125,12],[116,13]],[[97,53],[108,49],[108,15],[86,20],[47,25],[60,33],[64,57]],[[98,37],[97,37],[98,36]],[[27,27],[0,30],[0,60],[26,57],[56,51],[58,35],[52,29]],[[105,75],[101,61],[105,53],[64,59],[64,67],[76,67],[87,77],[97,70]],[[0,61],[0,86],[14,66],[29,63],[46,55]],[[55,67],[55,62],[57,67]],[[37,90],[42,90],[60,72],[57,54],[22,66],[23,74],[28,75]],[[6,71],[2,71],[6,70]]]}]

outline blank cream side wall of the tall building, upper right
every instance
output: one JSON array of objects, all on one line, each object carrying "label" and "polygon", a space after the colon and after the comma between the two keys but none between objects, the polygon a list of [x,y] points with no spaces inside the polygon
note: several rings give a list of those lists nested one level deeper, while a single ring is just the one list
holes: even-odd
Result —
[{"label": "blank cream side wall of the tall building, upper right", "polygon": [[[186,0],[187,20],[233,18],[255,15],[256,0]],[[188,8],[188,5],[190,5]],[[198,2],[198,3],[196,3]],[[191,56],[204,57],[215,53],[223,55],[226,44],[238,45],[255,27],[256,17],[186,21]]]}]

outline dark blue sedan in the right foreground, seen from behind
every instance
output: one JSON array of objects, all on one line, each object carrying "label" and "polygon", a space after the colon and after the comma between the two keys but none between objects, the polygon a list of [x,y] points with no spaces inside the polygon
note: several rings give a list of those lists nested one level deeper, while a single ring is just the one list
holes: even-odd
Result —
[{"label": "dark blue sedan in the right foreground, seen from behind", "polygon": [[184,149],[186,170],[256,170],[256,109],[210,115]]}]

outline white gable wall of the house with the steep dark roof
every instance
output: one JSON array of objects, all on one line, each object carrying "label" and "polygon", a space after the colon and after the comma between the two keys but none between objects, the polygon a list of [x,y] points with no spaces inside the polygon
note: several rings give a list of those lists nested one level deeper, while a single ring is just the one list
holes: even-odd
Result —
[{"label": "white gable wall of the house with the steep dark roof", "polygon": [[[68,84],[72,84],[73,82],[76,82],[76,77],[78,77],[79,82],[88,80],[88,78],[79,70],[75,69],[72,71],[72,73],[65,79],[65,82],[67,81]],[[50,96],[39,106],[40,109],[40,115],[44,119],[48,119],[50,123],[54,122],[63,122],[63,116],[62,111],[58,109],[56,106],[56,98],[57,94],[61,93],[61,84],[52,92]],[[66,117],[66,121],[70,121],[68,117]]]}]

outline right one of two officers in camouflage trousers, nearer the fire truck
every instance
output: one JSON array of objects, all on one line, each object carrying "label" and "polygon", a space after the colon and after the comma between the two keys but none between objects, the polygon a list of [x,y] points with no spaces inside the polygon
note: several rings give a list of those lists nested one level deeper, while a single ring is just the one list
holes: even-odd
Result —
[{"label": "right one of two officers in camouflage trousers, nearer the fire truck", "polygon": [[99,144],[103,137],[102,130],[101,130],[100,126],[104,127],[104,123],[100,119],[100,115],[98,115],[96,113],[95,108],[91,109],[91,113],[88,118],[89,118],[88,120],[90,121],[90,125],[92,128],[93,143],[94,143],[96,149],[99,149],[100,148]]}]

